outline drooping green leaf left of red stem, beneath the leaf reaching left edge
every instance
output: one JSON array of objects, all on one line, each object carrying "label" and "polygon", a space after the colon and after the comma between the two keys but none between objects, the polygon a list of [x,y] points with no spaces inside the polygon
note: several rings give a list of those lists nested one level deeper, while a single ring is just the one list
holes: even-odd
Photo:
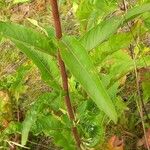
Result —
[{"label": "drooping green leaf left of red stem, beneath the leaf reaching left edge", "polygon": [[13,40],[15,45],[25,53],[39,68],[44,81],[49,83],[53,88],[60,88],[58,83],[60,75],[56,61],[52,56],[36,51],[33,47],[28,47],[19,41]]}]

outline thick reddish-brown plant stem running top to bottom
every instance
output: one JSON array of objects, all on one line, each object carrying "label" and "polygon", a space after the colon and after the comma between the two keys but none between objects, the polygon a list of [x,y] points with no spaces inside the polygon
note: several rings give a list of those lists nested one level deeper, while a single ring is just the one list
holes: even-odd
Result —
[{"label": "thick reddish-brown plant stem running top to bottom", "polygon": [[[62,29],[61,29],[61,22],[60,22],[60,17],[59,17],[57,0],[50,0],[50,3],[51,3],[51,8],[52,8],[52,15],[54,18],[56,38],[59,40],[62,37]],[[77,147],[80,149],[81,141],[80,141],[80,137],[79,137],[77,128],[76,128],[76,126],[74,126],[75,116],[74,116],[73,108],[71,105],[71,100],[69,97],[68,77],[67,77],[67,73],[66,73],[65,64],[60,55],[60,49],[58,49],[58,57],[57,58],[58,58],[58,63],[59,63],[59,67],[60,67],[61,77],[62,77],[63,90],[65,92],[65,104],[67,107],[69,118],[73,122],[72,133],[74,136],[74,140],[77,144]]]}]

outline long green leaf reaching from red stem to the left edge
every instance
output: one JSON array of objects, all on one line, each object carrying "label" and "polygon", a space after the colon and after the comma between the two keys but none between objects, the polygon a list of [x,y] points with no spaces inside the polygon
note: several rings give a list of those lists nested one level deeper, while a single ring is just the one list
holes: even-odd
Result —
[{"label": "long green leaf reaching from red stem to the left edge", "polygon": [[19,24],[0,21],[0,34],[10,40],[16,40],[25,46],[32,46],[38,51],[55,55],[56,48],[52,39]]}]

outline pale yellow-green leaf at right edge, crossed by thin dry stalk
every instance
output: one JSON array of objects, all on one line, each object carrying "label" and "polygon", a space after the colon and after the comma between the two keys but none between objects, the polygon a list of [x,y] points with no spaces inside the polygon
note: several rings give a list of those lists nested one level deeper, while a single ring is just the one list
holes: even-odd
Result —
[{"label": "pale yellow-green leaf at right edge, crossed by thin dry stalk", "polygon": [[[127,75],[129,72],[135,69],[134,60],[127,52],[117,51],[113,55],[107,58],[108,62],[105,60],[104,64],[110,64],[109,60],[112,60],[113,64],[110,65],[109,75],[111,77],[111,82],[108,87],[115,84],[123,76]],[[136,67],[138,69],[150,65],[150,56],[145,56],[138,58],[136,61]],[[122,67],[123,66],[123,67]]]}]

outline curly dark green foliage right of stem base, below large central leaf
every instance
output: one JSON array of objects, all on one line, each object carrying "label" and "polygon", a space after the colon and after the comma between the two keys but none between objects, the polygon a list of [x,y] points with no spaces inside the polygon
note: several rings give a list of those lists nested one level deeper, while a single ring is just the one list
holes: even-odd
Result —
[{"label": "curly dark green foliage right of stem base, below large central leaf", "polygon": [[103,143],[105,125],[108,120],[106,115],[90,100],[80,102],[77,110],[77,118],[80,120],[81,135],[85,145],[94,147]]}]

